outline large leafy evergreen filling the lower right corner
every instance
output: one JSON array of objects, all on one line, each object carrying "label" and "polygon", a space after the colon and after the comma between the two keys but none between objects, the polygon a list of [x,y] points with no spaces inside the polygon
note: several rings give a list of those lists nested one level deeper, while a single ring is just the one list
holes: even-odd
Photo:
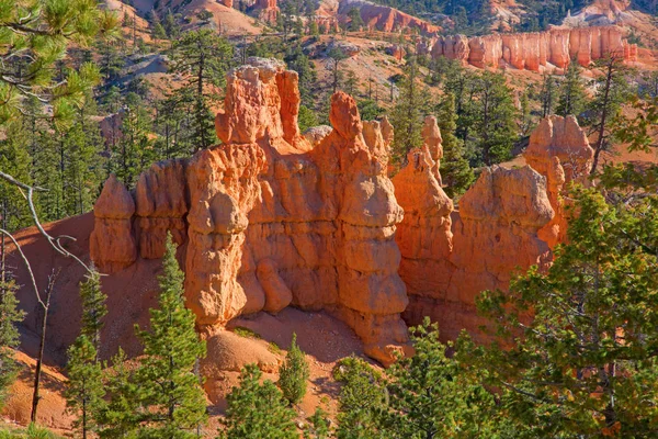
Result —
[{"label": "large leafy evergreen filling the lower right corner", "polygon": [[657,431],[658,200],[605,192],[572,190],[569,244],[547,272],[533,267],[508,293],[478,300],[511,346],[480,348],[473,361],[522,437]]}]

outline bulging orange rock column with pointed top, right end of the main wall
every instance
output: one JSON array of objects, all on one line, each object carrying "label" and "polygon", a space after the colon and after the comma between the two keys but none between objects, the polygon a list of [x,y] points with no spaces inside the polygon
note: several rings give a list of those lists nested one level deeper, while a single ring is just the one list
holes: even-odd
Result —
[{"label": "bulging orange rock column with pointed top, right end of the main wall", "polygon": [[394,238],[404,212],[386,165],[363,139],[354,99],[336,93],[329,120],[333,131],[314,155],[322,199],[333,199],[338,206],[338,313],[363,339],[365,352],[388,363],[407,344],[400,313],[408,299],[397,272],[400,252]]}]

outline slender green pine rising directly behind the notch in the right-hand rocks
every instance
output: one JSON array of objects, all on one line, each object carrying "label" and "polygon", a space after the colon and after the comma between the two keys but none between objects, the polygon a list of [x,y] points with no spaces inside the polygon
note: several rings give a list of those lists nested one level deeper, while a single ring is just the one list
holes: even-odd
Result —
[{"label": "slender green pine rising directly behind the notch in the right-hand rocks", "polygon": [[455,97],[447,93],[436,111],[436,120],[443,137],[443,158],[441,159],[441,178],[447,196],[460,196],[475,181],[473,169],[464,157],[464,146],[455,135],[457,115]]}]

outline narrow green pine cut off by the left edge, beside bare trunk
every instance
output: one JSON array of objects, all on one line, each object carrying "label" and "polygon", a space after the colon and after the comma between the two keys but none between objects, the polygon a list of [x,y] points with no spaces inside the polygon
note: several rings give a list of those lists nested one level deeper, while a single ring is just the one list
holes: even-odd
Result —
[{"label": "narrow green pine cut off by the left edge, beside bare trunk", "polygon": [[19,371],[14,360],[14,350],[20,344],[16,324],[23,320],[24,313],[19,309],[15,292],[16,284],[3,271],[0,279],[0,408]]}]

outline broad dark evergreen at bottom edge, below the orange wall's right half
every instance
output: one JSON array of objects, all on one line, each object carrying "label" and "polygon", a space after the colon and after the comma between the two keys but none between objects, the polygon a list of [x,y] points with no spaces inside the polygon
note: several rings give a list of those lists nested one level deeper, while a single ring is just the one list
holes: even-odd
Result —
[{"label": "broad dark evergreen at bottom edge, below the orange wall's right half", "polygon": [[387,371],[387,437],[494,437],[497,408],[494,395],[479,384],[481,371],[446,356],[453,346],[439,340],[438,326],[429,317],[409,333],[415,354],[399,359]]}]

